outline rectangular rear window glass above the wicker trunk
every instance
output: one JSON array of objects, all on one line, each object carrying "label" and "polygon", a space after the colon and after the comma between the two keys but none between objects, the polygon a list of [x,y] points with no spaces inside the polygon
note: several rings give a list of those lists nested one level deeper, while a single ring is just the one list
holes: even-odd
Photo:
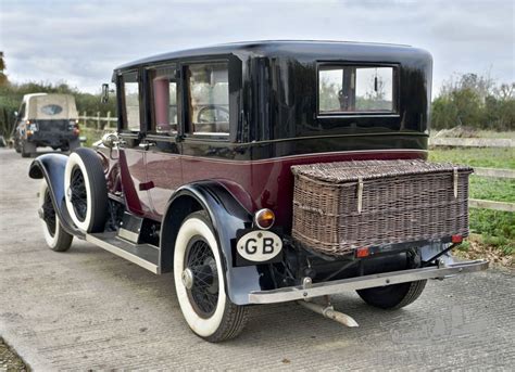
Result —
[{"label": "rectangular rear window glass above the wicker trunk", "polygon": [[322,65],[318,114],[391,114],[397,112],[393,66]]}]

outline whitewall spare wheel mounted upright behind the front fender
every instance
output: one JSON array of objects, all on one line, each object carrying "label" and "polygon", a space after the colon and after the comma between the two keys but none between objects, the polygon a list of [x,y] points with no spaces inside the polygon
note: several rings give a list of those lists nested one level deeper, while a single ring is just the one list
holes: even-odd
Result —
[{"label": "whitewall spare wheel mounted upright behind the front fender", "polygon": [[64,170],[66,208],[75,226],[86,232],[103,231],[108,218],[108,187],[99,156],[77,149]]}]

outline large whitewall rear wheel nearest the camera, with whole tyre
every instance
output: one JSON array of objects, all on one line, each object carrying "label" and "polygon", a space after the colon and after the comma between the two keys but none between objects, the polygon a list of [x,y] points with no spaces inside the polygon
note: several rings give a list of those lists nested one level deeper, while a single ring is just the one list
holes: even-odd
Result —
[{"label": "large whitewall rear wheel nearest the camera, with whole tyre", "polygon": [[227,296],[224,272],[209,217],[203,211],[189,215],[175,244],[175,288],[190,329],[212,343],[236,337],[248,319],[247,308]]}]

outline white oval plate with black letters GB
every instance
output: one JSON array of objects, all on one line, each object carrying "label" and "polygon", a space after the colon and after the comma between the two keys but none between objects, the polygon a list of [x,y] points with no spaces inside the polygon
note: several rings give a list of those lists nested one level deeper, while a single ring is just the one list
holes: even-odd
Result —
[{"label": "white oval plate with black letters GB", "polygon": [[272,231],[254,230],[241,236],[236,246],[244,259],[263,262],[280,253],[282,241]]}]

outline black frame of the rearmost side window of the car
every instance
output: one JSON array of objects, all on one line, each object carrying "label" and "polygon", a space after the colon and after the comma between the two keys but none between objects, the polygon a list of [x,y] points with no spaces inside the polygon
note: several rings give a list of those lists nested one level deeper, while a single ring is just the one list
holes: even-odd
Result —
[{"label": "black frame of the rearmost side window of the car", "polygon": [[[186,74],[186,69],[191,65],[209,65],[209,64],[216,64],[216,63],[225,63],[227,65],[227,99],[228,99],[228,111],[229,111],[229,131],[221,134],[219,132],[213,132],[212,134],[208,133],[194,133],[191,128],[191,123],[189,118],[189,81],[188,76]],[[234,142],[235,134],[233,133],[233,121],[235,120],[231,115],[231,107],[230,107],[230,73],[231,73],[231,63],[229,57],[211,57],[211,59],[192,59],[192,60],[185,60],[180,63],[180,82],[181,82],[181,106],[183,106],[183,136],[187,140],[193,141],[215,141],[215,142]]]}]

